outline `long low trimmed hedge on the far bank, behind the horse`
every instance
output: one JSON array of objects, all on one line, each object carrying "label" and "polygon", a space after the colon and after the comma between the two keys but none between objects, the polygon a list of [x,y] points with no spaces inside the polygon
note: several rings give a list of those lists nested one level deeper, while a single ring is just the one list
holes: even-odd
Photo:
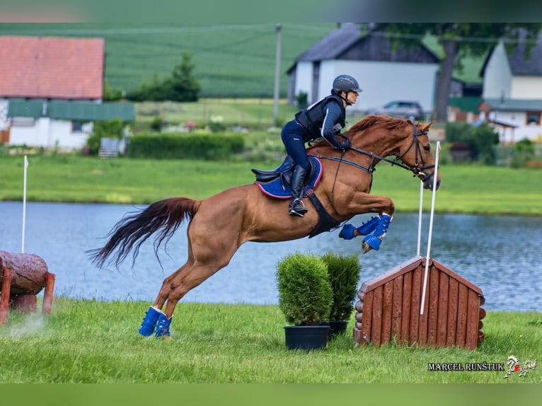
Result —
[{"label": "long low trimmed hedge on the far bank, behind the horse", "polygon": [[130,158],[220,160],[244,150],[241,135],[137,134],[129,141]]}]

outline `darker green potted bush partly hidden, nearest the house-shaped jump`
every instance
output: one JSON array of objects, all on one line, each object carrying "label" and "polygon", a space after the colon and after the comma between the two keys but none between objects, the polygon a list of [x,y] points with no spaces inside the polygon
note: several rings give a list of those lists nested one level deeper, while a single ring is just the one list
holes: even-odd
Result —
[{"label": "darker green potted bush partly hidden, nearest the house-shaped jump", "polygon": [[321,257],[328,267],[328,280],[333,294],[330,310],[330,337],[346,331],[350,315],[354,310],[357,282],[362,266],[357,255],[327,253]]}]

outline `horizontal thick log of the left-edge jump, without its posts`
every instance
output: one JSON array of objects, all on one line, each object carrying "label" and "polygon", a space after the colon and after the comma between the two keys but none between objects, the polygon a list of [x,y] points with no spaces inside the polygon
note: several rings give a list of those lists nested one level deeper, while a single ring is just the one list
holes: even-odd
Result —
[{"label": "horizontal thick log of the left-edge jump, without its posts", "polygon": [[38,255],[0,251],[0,280],[6,268],[11,270],[11,295],[35,295],[45,286],[47,264]]}]

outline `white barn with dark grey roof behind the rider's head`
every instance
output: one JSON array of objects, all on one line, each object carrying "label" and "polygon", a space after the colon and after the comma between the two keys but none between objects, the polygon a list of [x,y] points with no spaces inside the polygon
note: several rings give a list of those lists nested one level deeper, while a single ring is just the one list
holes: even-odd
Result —
[{"label": "white barn with dark grey roof behind the rider's head", "polygon": [[392,47],[384,33],[362,33],[359,25],[342,24],[299,55],[287,70],[287,98],[294,103],[306,93],[313,103],[330,93],[340,74],[354,76],[363,93],[349,110],[367,111],[391,100],[415,100],[431,111],[439,58],[425,45]]}]

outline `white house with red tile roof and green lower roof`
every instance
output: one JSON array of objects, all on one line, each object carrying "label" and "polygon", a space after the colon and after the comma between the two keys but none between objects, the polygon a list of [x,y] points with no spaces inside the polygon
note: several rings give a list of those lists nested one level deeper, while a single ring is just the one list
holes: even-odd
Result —
[{"label": "white house with red tile roof and green lower roof", "polygon": [[100,38],[0,36],[0,142],[81,149],[96,120],[134,120],[134,105],[102,103]]}]

